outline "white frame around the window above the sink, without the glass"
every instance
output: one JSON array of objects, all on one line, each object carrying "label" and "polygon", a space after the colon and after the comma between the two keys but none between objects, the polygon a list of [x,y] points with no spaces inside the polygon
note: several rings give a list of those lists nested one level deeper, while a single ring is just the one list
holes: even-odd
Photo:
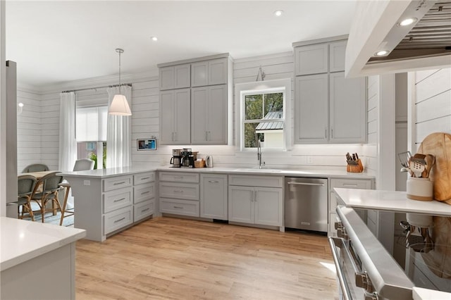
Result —
[{"label": "white frame around the window above the sink, without the glass", "polygon": [[244,124],[245,124],[245,96],[249,94],[268,94],[283,93],[283,146],[265,147],[266,152],[290,151],[292,146],[292,125],[291,125],[291,87],[292,79],[285,78],[280,80],[267,80],[259,82],[246,82],[235,85],[235,147],[237,152],[257,151],[257,148],[245,148],[244,143]]}]

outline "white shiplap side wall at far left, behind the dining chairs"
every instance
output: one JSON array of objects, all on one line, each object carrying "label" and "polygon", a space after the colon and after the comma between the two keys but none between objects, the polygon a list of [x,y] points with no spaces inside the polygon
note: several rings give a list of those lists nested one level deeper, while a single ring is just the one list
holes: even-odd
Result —
[{"label": "white shiplap side wall at far left, behind the dining chairs", "polygon": [[18,172],[25,166],[41,162],[41,95],[30,89],[18,87],[17,103],[23,103],[17,115]]}]

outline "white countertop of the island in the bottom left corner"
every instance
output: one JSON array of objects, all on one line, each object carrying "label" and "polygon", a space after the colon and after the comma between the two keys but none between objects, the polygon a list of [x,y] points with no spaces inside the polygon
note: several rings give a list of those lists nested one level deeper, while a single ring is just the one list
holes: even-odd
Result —
[{"label": "white countertop of the island in the bottom left corner", "polygon": [[78,228],[0,217],[0,271],[85,236]]}]

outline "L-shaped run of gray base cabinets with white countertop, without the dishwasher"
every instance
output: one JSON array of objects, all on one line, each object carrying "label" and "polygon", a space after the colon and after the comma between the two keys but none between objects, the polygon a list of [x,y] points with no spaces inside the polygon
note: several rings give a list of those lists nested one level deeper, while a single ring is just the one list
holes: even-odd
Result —
[{"label": "L-shaped run of gray base cabinets with white countertop, without the dishwasher", "polygon": [[[98,242],[156,213],[228,220],[229,223],[261,225],[283,231],[285,176],[327,178],[330,190],[333,187],[374,186],[374,178],[365,173],[289,168],[140,166],[67,172],[62,175],[73,189],[75,227],[87,230],[87,239]],[[249,184],[245,185],[246,182]],[[233,196],[234,193],[240,195],[239,201]],[[258,206],[254,204],[254,198],[243,198],[249,193],[254,197],[257,194],[266,195],[262,199],[264,204]],[[324,208],[324,213],[328,220],[333,220],[335,196],[328,194],[327,197],[326,201],[332,202]],[[233,214],[233,205],[240,211],[239,215]]]}]

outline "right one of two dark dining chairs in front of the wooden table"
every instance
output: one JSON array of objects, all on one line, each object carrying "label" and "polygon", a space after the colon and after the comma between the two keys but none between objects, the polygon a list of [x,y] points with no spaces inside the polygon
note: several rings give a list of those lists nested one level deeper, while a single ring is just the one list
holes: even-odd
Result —
[{"label": "right one of two dark dining chairs in front of the wooden table", "polygon": [[[51,211],[56,215],[58,209],[61,211],[61,205],[58,200],[58,192],[63,189],[60,184],[63,182],[63,176],[56,175],[60,171],[54,171],[37,180],[35,189],[31,195],[31,201],[35,201],[40,208],[42,215],[42,223],[44,223],[44,215]],[[47,208],[47,204],[51,201],[51,208]]]}]

